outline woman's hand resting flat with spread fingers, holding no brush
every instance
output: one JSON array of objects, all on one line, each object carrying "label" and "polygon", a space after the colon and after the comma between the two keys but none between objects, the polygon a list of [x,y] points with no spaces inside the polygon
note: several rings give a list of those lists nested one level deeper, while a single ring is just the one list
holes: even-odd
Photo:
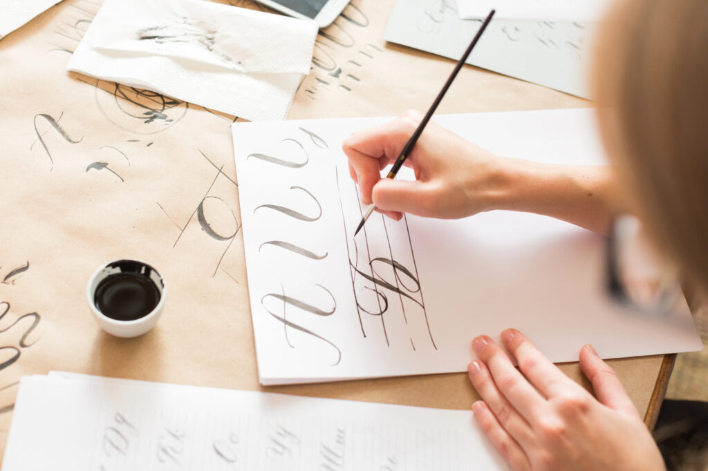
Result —
[{"label": "woman's hand resting flat with spread fingers, holding no brush", "polygon": [[479,361],[468,373],[482,397],[474,417],[514,470],[666,470],[632,400],[593,347],[581,349],[580,365],[597,400],[518,330],[501,339],[521,373],[486,335],[472,342]]}]

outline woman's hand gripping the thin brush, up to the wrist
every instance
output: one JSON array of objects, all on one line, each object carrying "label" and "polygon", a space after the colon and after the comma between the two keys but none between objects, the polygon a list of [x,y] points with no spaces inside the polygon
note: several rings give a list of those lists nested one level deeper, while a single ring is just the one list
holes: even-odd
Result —
[{"label": "woman's hand gripping the thin brush, up to the wrist", "polygon": [[502,172],[489,151],[428,123],[406,160],[416,181],[381,178],[381,170],[396,161],[423,119],[408,111],[393,122],[355,132],[342,145],[349,172],[358,182],[362,203],[394,219],[402,213],[455,219],[493,209],[492,200]]}]

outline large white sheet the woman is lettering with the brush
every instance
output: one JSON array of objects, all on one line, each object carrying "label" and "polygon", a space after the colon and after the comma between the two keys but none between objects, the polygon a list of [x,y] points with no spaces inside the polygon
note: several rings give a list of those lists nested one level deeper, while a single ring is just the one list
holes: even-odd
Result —
[{"label": "large white sheet the woman is lettering with the brush", "polygon": [[[587,343],[605,358],[702,348],[685,302],[656,317],[610,300],[605,239],[569,223],[378,214],[354,240],[365,207],[341,143],[387,120],[232,125],[261,383],[466,371],[472,338],[507,327],[556,362]],[[502,156],[604,162],[593,110],[433,120]]]}]

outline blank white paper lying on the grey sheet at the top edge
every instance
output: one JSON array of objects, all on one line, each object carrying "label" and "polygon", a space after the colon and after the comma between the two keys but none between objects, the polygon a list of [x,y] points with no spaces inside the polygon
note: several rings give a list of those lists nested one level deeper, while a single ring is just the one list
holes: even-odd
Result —
[{"label": "blank white paper lying on the grey sheet at the top edge", "polygon": [[500,20],[600,21],[612,0],[457,0],[459,17]]}]

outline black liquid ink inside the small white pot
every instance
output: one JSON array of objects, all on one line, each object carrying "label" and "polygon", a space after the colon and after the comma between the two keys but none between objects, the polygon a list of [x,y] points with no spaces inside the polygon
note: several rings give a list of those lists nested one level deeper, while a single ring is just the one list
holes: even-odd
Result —
[{"label": "black liquid ink inside the small white pot", "polygon": [[96,286],[93,303],[108,318],[136,320],[152,312],[160,291],[146,274],[121,272],[109,275]]}]

